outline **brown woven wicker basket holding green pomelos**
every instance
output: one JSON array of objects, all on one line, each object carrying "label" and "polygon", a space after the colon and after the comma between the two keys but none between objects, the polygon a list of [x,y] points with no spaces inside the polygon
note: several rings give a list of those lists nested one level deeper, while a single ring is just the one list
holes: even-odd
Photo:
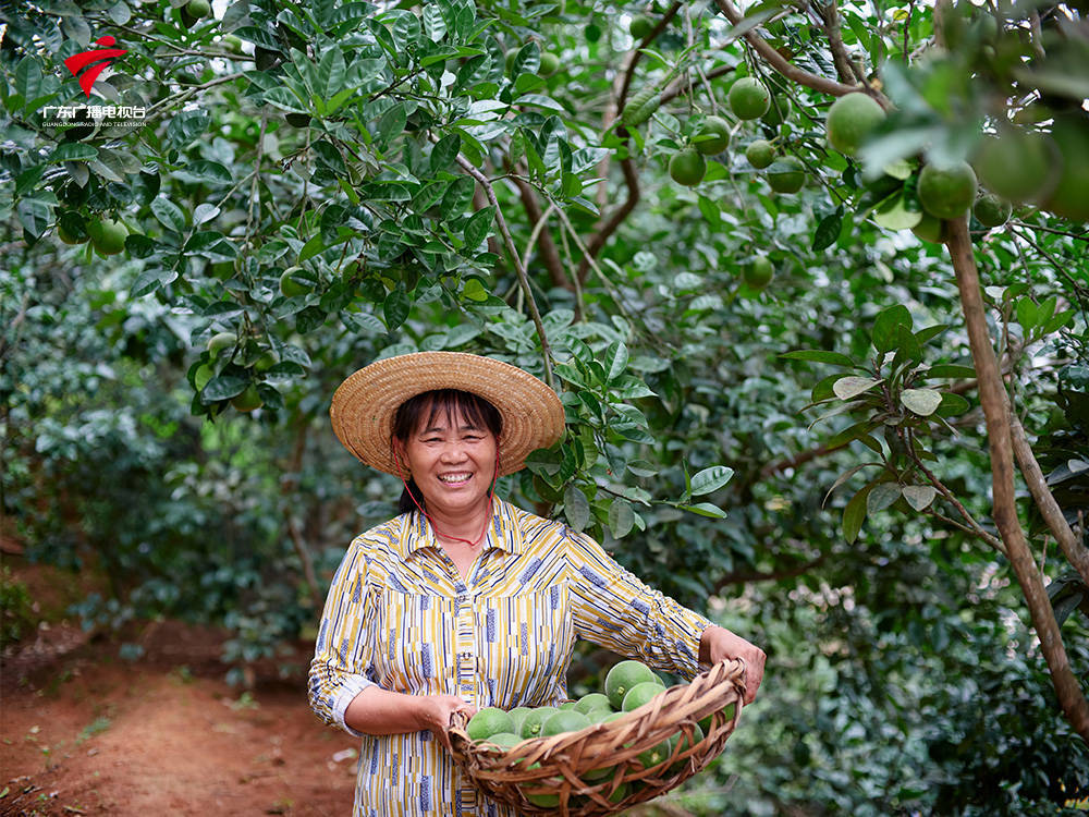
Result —
[{"label": "brown woven wicker basket holding green pomelos", "polygon": [[[523,741],[511,749],[474,743],[465,731],[467,719],[455,714],[450,743],[455,761],[488,796],[514,806],[519,814],[572,817],[622,812],[657,797],[700,771],[725,746],[737,727],[745,696],[745,663],[722,661],[690,684],[671,686],[653,700],[609,723],[577,732]],[[723,708],[734,704],[727,719]],[[677,741],[672,756],[644,768],[638,755],[677,732],[693,736],[694,724],[711,716],[711,725],[697,744]],[[584,779],[605,767],[616,771],[601,779]],[[621,785],[627,784],[620,798]],[[527,795],[552,795],[550,805],[537,805]],[[610,800],[616,801],[612,802]],[[556,802],[558,801],[558,802]]]}]

